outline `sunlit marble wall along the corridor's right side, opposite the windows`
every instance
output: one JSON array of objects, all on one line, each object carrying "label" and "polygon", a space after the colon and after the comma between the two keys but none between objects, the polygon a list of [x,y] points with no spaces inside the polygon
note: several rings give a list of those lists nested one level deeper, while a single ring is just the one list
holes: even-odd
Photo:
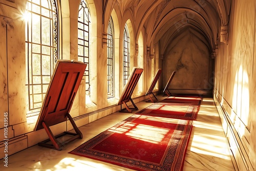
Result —
[{"label": "sunlit marble wall along the corridor's right side, opposite the windows", "polygon": [[[241,139],[243,151],[234,151],[239,165],[242,160],[239,155],[248,156],[245,162],[256,167],[256,117],[255,117],[255,1],[246,3],[234,1],[230,16],[229,45],[220,44],[216,62],[216,73],[227,66],[228,76],[216,77],[216,91],[221,93],[224,110],[227,112],[232,125],[230,132]],[[244,19],[248,18],[248,19]],[[225,74],[225,73],[224,73]],[[225,105],[229,104],[229,105]],[[232,146],[231,146],[232,147]],[[243,168],[241,166],[241,168]]]}]

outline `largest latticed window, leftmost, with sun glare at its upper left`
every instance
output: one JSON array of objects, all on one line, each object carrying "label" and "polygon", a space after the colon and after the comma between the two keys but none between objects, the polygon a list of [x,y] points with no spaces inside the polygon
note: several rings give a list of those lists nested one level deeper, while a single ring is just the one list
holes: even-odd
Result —
[{"label": "largest latticed window, leftmost, with sun glare at its upper left", "polygon": [[40,111],[58,58],[58,16],[54,0],[27,1],[27,111]]}]

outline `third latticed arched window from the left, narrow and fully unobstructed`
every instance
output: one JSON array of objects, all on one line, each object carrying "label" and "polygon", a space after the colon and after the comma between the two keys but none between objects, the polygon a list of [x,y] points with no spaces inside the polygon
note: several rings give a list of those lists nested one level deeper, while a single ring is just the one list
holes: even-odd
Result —
[{"label": "third latticed arched window from the left, narrow and fully unobstructed", "polygon": [[108,98],[114,96],[114,41],[113,41],[113,20],[110,18],[108,26]]}]

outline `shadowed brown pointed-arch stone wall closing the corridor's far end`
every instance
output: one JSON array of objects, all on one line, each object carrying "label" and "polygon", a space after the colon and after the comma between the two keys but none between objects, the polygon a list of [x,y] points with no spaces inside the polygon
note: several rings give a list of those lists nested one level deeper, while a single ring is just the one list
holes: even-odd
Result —
[{"label": "shadowed brown pointed-arch stone wall closing the corridor's far end", "polygon": [[163,59],[161,89],[176,71],[169,86],[170,92],[211,94],[213,60],[200,38],[203,37],[199,37],[193,29],[187,29],[168,46]]}]

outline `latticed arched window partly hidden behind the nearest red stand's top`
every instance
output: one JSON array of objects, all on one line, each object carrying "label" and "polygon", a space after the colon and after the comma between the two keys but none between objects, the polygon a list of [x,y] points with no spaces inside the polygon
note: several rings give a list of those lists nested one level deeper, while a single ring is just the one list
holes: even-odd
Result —
[{"label": "latticed arched window partly hidden behind the nearest red stand's top", "polygon": [[86,79],[86,95],[90,97],[90,12],[84,0],[81,0],[78,11],[78,60],[87,63],[84,76]]}]

